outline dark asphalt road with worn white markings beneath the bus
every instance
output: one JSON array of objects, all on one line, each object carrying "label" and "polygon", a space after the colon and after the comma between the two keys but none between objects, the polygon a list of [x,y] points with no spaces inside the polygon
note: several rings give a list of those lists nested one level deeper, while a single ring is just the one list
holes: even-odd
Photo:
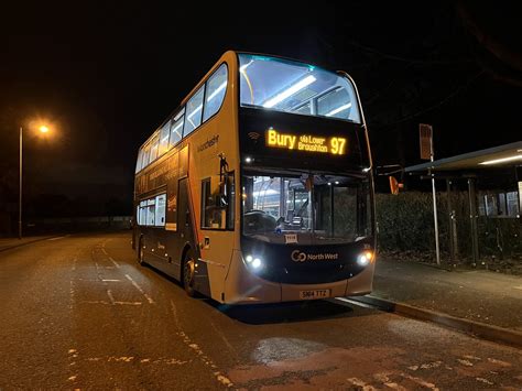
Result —
[{"label": "dark asphalt road with worn white markings beneath the bus", "polygon": [[519,349],[330,300],[227,307],[135,262],[130,232],[0,253],[0,389],[522,388]]}]

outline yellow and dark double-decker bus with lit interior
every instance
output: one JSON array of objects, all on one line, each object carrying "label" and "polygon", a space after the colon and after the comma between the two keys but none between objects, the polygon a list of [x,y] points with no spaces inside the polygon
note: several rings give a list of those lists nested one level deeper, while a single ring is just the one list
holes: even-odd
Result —
[{"label": "yellow and dark double-decker bus with lit interior", "polygon": [[141,145],[133,247],[220,303],[367,294],[372,162],[345,72],[226,52]]}]

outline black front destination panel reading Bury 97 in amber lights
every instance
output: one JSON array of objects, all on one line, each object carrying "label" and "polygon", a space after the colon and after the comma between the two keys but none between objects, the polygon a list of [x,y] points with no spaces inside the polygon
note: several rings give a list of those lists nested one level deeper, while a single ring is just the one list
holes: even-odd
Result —
[{"label": "black front destination panel reading Bury 97 in amber lights", "polygon": [[327,117],[241,107],[239,142],[249,166],[359,172],[370,166],[365,128]]}]

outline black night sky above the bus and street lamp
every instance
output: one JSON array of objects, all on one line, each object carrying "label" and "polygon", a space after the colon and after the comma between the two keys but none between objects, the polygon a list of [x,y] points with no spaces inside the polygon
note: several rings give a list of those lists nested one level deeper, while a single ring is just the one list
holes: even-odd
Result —
[{"label": "black night sky above the bus and street lamp", "polygon": [[35,216],[130,214],[139,145],[229,48],[347,70],[377,165],[420,163],[420,122],[436,158],[521,139],[515,2],[17,3],[0,14],[0,203],[18,196],[19,127],[48,118],[55,135],[24,141]]}]

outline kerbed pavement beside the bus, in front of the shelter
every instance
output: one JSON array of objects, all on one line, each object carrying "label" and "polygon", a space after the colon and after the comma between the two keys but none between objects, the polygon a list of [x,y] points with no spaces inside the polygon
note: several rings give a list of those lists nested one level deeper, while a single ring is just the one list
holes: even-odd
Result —
[{"label": "kerbed pavement beside the bus, in front of the shelter", "polygon": [[522,346],[522,276],[378,259],[373,292],[352,298]]}]

